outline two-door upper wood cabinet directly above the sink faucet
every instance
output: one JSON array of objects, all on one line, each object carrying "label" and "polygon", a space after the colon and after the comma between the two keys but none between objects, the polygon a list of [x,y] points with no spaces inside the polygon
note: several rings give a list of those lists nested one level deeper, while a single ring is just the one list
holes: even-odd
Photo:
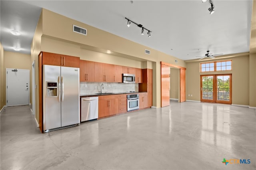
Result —
[{"label": "two-door upper wood cabinet directly above the sink faucet", "polygon": [[114,65],[95,62],[95,81],[114,82]]}]

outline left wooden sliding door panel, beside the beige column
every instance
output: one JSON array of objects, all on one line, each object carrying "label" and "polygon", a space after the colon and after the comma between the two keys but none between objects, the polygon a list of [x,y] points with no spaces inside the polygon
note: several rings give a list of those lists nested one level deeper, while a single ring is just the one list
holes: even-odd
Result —
[{"label": "left wooden sliding door panel, beside the beige column", "polygon": [[170,105],[170,67],[161,64],[161,107]]}]

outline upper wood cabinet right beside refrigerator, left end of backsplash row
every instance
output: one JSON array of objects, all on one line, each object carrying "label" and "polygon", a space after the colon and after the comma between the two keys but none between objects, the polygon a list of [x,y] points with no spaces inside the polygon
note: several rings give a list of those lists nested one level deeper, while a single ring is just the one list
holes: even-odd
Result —
[{"label": "upper wood cabinet right beside refrigerator, left end of backsplash row", "polygon": [[93,61],[80,60],[80,81],[94,82],[94,63]]}]

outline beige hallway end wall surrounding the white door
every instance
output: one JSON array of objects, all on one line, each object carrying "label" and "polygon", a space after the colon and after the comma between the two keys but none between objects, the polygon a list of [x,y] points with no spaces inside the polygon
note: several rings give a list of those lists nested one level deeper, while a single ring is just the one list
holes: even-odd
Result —
[{"label": "beige hallway end wall surrounding the white door", "polygon": [[[6,68],[11,69],[28,69],[30,70],[30,87],[31,87],[31,56],[18,52],[4,51],[4,87],[6,87]],[[32,89],[30,88],[30,102],[32,99]],[[4,88],[4,105],[6,105],[6,88]]]}]

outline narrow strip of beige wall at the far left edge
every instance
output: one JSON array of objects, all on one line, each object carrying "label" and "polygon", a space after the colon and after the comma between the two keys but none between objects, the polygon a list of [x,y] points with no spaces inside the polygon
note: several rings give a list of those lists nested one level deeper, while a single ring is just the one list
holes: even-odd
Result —
[{"label": "narrow strip of beige wall at the far left edge", "polygon": [[4,48],[0,43],[0,110],[4,107]]}]

